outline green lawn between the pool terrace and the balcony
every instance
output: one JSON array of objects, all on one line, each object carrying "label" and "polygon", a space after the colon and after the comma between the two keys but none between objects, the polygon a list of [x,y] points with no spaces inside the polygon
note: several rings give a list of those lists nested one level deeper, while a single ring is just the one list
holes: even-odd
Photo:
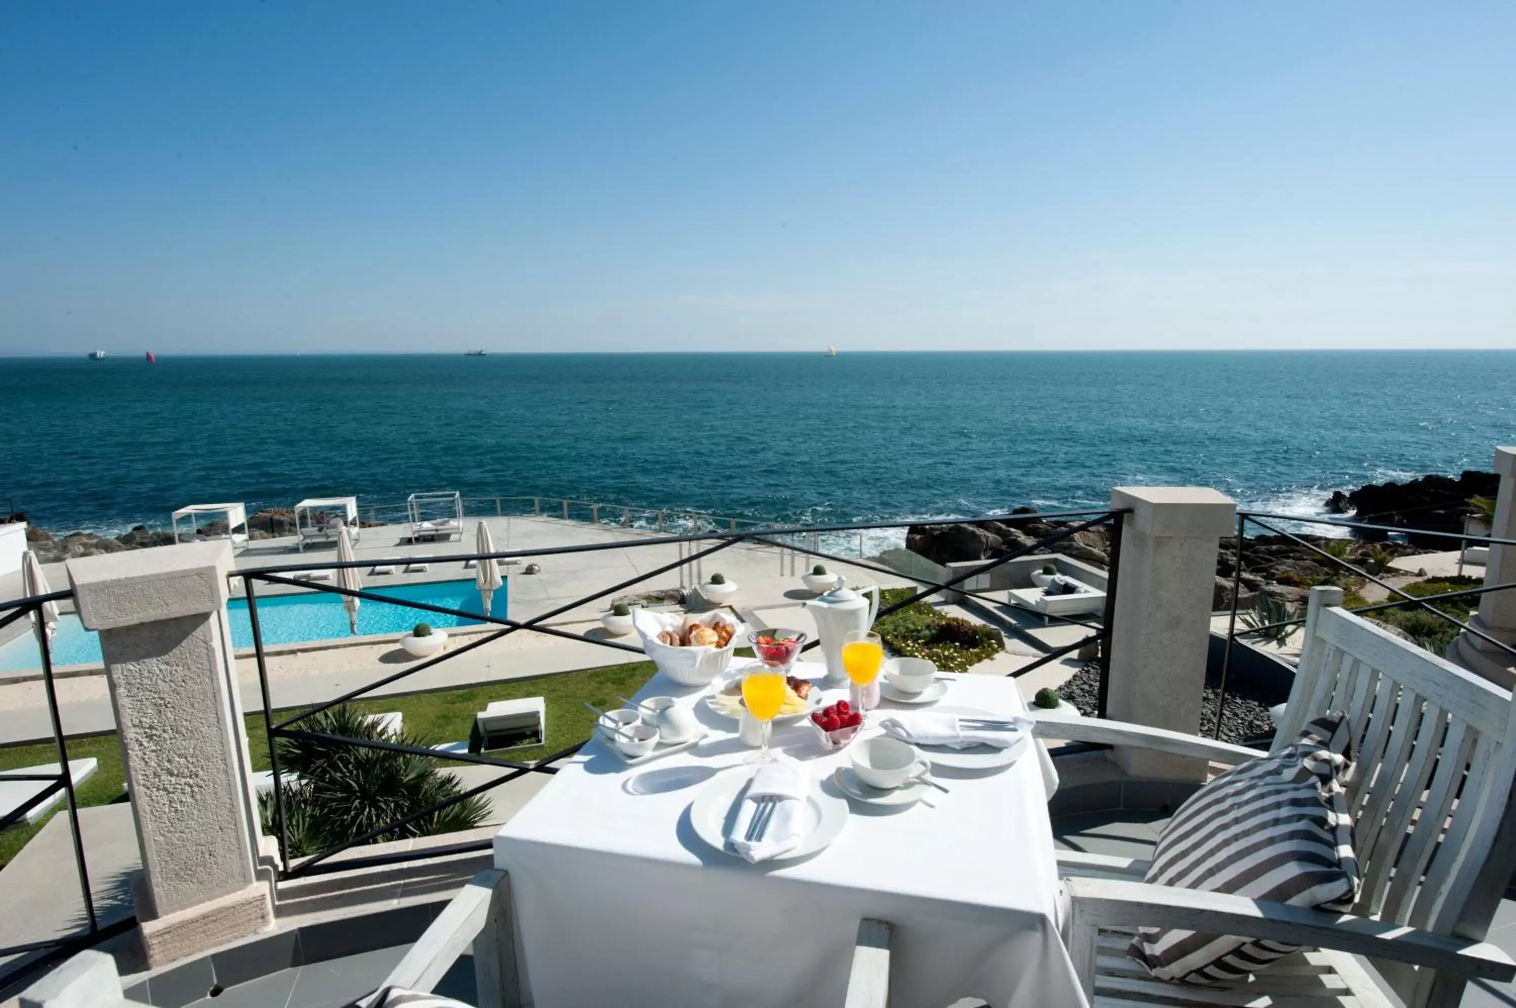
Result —
[{"label": "green lawn between the pool terrace and the balcony", "polygon": [[[491,700],[514,700],[517,697],[540,696],[547,702],[547,740],[535,749],[512,749],[499,753],[508,759],[540,759],[581,743],[590,737],[594,725],[594,714],[584,702],[588,700],[602,709],[622,706],[619,696],[632,696],[653,675],[650,661],[638,661],[626,665],[606,665],[602,668],[587,668],[584,671],[565,671],[538,679],[512,679],[508,682],[491,682],[482,687],[465,690],[443,690],[438,693],[411,693],[403,696],[388,696],[374,700],[355,700],[353,706],[361,711],[379,714],[382,711],[400,711],[405,715],[406,734],[423,735],[431,743],[465,741],[473,728],[473,715],[482,711]],[[279,717],[288,717],[294,711],[280,711]],[[268,738],[264,734],[262,712],[247,717],[247,743],[255,770],[268,769]],[[115,735],[97,735],[92,738],[74,738],[68,743],[68,758],[80,759],[94,756],[100,761],[96,775],[79,788],[80,805],[106,805],[123,800],[121,782],[126,779],[121,772],[121,747]],[[14,767],[29,767],[42,762],[56,762],[58,750],[52,743],[39,746],[15,746],[0,749],[0,770]],[[56,812],[55,812],[56,814]],[[44,820],[45,822],[45,820]],[[26,828],[11,828],[0,832],[0,866],[9,864],[11,858],[26,846],[26,841],[42,828],[42,823]]]}]

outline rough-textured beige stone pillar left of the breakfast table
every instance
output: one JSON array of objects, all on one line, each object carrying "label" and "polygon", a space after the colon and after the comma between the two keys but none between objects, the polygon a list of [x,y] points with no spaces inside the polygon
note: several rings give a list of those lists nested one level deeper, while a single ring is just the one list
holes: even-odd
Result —
[{"label": "rough-textured beige stone pillar left of the breakfast table", "polygon": [[79,618],[100,632],[143,852],[143,949],[159,966],[273,923],[230,628],[229,543],[68,561]]}]

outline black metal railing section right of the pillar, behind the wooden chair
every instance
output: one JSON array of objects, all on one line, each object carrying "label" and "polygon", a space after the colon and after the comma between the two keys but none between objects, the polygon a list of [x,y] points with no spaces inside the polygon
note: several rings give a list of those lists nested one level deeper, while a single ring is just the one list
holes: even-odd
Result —
[{"label": "black metal railing section right of the pillar, behind the wooden chair", "polygon": [[1469,535],[1467,532],[1436,532],[1436,531],[1430,531],[1430,529],[1407,529],[1407,527],[1402,527],[1402,526],[1372,524],[1372,523],[1364,523],[1364,521],[1345,521],[1345,520],[1336,520],[1336,518],[1302,518],[1299,515],[1270,514],[1270,512],[1263,512],[1263,511],[1239,511],[1237,512],[1237,532],[1236,532],[1234,546],[1233,546],[1233,550],[1234,550],[1234,564],[1233,564],[1233,584],[1231,584],[1231,611],[1228,614],[1226,646],[1225,646],[1225,650],[1222,653],[1220,684],[1219,684],[1219,690],[1217,690],[1219,696],[1217,696],[1217,700],[1216,700],[1216,726],[1214,726],[1214,734],[1217,737],[1220,735],[1220,729],[1222,729],[1222,714],[1226,709],[1226,684],[1228,684],[1228,675],[1231,671],[1233,647],[1236,646],[1236,641],[1239,638],[1245,638],[1245,637],[1258,637],[1258,635],[1273,634],[1273,632],[1278,632],[1278,631],[1287,631],[1290,628],[1304,626],[1305,625],[1305,614],[1302,611],[1299,615],[1292,615],[1290,618],[1273,620],[1273,621],[1269,621],[1269,623],[1258,623],[1255,626],[1246,626],[1243,629],[1237,628],[1237,615],[1239,615],[1239,611],[1240,611],[1240,600],[1242,600],[1242,588],[1243,588],[1243,581],[1242,579],[1243,579],[1243,567],[1245,567],[1246,543],[1248,543],[1248,526],[1249,524],[1257,526],[1260,531],[1263,531],[1263,532],[1266,532],[1269,535],[1281,537],[1281,538],[1293,543],[1298,547],[1304,547],[1305,550],[1308,550],[1311,553],[1311,556],[1314,559],[1322,561],[1328,568],[1336,568],[1337,571],[1340,571],[1342,574],[1345,574],[1348,578],[1361,579],[1361,582],[1378,585],[1380,588],[1384,588],[1384,591],[1389,593],[1389,596],[1390,596],[1390,599],[1387,602],[1373,602],[1373,603],[1369,603],[1369,605],[1352,606],[1352,608],[1349,608],[1351,612],[1364,615],[1364,614],[1372,614],[1372,612],[1381,612],[1381,611],[1386,611],[1386,609],[1417,608],[1417,609],[1420,609],[1424,612],[1428,612],[1428,614],[1434,615],[1439,620],[1446,621],[1448,625],[1457,628],[1460,632],[1469,634],[1471,637],[1483,641],[1484,644],[1490,646],[1496,652],[1501,652],[1501,653],[1510,656],[1511,662],[1516,664],[1516,647],[1511,647],[1505,641],[1501,641],[1501,640],[1492,637],[1486,631],[1483,631],[1483,629],[1480,629],[1477,626],[1472,626],[1467,621],[1460,620],[1460,618],[1448,614],[1446,611],[1443,611],[1437,605],[1437,603],[1442,603],[1442,602],[1449,602],[1452,599],[1477,599],[1480,596],[1484,596],[1484,594],[1489,594],[1489,593],[1493,593],[1493,591],[1508,591],[1511,588],[1516,588],[1516,582],[1495,584],[1495,585],[1486,584],[1486,585],[1480,585],[1480,587],[1460,588],[1457,591],[1443,591],[1443,593],[1437,593],[1437,594],[1431,594],[1431,596],[1413,596],[1413,594],[1410,594],[1407,591],[1402,591],[1401,588],[1389,584],[1384,579],[1384,570],[1377,570],[1377,571],[1370,573],[1364,567],[1360,567],[1357,564],[1349,562],[1345,556],[1337,556],[1337,555],[1328,552],[1326,549],[1323,549],[1322,546],[1319,546],[1316,543],[1310,543],[1308,540],[1302,538],[1301,535],[1298,535],[1295,532],[1289,532],[1287,529],[1283,527],[1284,524],[1289,524],[1289,523],[1310,524],[1310,526],[1326,526],[1326,527],[1333,527],[1333,529],[1343,529],[1343,531],[1348,531],[1351,534],[1369,532],[1369,534],[1375,534],[1375,535],[1389,534],[1389,535],[1416,535],[1416,537],[1440,538],[1440,540],[1446,540],[1449,543],[1457,543],[1460,553],[1461,553],[1463,549],[1466,549],[1466,546],[1469,543],[1484,544],[1484,546],[1516,546],[1516,540],[1507,540],[1507,538],[1498,538],[1498,537],[1474,537],[1474,535]]}]

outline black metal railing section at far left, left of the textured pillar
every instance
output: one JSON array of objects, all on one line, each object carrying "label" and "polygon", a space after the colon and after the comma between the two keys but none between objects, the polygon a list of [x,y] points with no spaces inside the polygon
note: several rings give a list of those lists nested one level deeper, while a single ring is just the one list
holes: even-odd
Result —
[{"label": "black metal railing section at far left, left of the textured pillar", "polygon": [[85,928],[65,935],[0,947],[0,959],[6,959],[0,964],[0,990],[6,990],[18,979],[136,925],[136,919],[130,916],[114,919],[109,925],[100,923],[89,884],[89,866],[85,858],[83,835],[79,832],[79,796],[74,790],[73,769],[68,765],[68,740],[64,737],[58,690],[53,684],[52,635],[47,632],[42,618],[44,606],[56,606],[59,602],[71,599],[71,591],[53,591],[12,602],[0,602],[0,629],[20,620],[30,620],[33,623],[32,632],[36,637],[41,658],[42,691],[47,699],[49,725],[58,753],[58,773],[0,772],[0,779],[5,781],[30,781],[44,785],[36,794],[21,802],[21,805],[0,815],[0,829],[21,823],[36,808],[49,808],[58,800],[59,791],[62,793],[65,802],[64,812],[68,817],[68,832],[73,843],[74,875],[79,882],[79,896],[83,902]]}]

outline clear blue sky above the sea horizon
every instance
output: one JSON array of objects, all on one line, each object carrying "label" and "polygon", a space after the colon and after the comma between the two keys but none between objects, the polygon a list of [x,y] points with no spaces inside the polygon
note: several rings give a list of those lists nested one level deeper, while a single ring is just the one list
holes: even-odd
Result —
[{"label": "clear blue sky above the sea horizon", "polygon": [[0,353],[1516,346],[1516,5],[6,3]]}]

